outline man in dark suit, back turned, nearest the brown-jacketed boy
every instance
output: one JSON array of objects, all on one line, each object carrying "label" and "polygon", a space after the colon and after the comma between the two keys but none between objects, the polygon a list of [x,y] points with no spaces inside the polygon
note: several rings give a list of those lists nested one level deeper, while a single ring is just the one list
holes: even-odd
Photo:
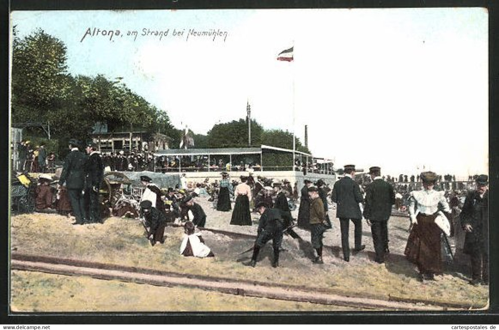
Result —
[{"label": "man in dark suit, back turned, nearest the brown-jacketed boy", "polygon": [[355,165],[344,166],[345,176],[334,183],[331,193],[331,200],[336,203],[336,217],[340,219],[341,248],[343,250],[343,260],[350,261],[350,246],[348,244],[348,225],[352,220],[355,229],[354,252],[365,249],[362,243],[362,212],[359,203],[364,198],[360,193],[359,185],[353,180],[355,177]]}]

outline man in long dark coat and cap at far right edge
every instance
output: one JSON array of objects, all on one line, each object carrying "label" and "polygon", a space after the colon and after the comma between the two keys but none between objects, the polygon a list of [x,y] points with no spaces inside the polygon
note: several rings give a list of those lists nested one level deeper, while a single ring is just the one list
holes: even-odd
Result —
[{"label": "man in long dark coat and cap at far right edge", "polygon": [[466,196],[461,223],[466,232],[463,252],[471,257],[470,284],[489,284],[489,176],[477,177],[477,189]]}]

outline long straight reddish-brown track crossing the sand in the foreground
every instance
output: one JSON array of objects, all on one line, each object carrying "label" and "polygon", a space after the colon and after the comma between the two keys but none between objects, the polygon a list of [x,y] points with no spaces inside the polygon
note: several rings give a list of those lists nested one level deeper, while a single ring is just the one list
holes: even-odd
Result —
[{"label": "long straight reddish-brown track crossing the sand in the foreground", "polygon": [[69,276],[89,276],[102,280],[149,284],[165,287],[187,287],[248,297],[309,302],[314,304],[353,307],[384,311],[447,311],[468,310],[471,307],[459,304],[429,304],[409,301],[397,297],[379,299],[348,295],[330,289],[305,286],[268,284],[250,280],[200,276],[165,272],[149,268],[96,263],[75,259],[60,259],[48,256],[12,253],[10,268]]}]

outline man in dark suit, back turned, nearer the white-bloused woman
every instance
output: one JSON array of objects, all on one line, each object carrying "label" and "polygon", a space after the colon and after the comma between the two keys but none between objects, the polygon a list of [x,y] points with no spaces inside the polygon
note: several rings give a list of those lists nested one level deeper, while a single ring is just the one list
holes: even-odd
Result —
[{"label": "man in dark suit, back turned, nearer the white-bloused woman", "polygon": [[374,261],[379,264],[385,262],[385,253],[388,249],[388,219],[392,214],[392,205],[395,204],[395,191],[390,183],[381,177],[381,168],[369,168],[372,182],[366,187],[364,218],[371,226],[373,237]]}]

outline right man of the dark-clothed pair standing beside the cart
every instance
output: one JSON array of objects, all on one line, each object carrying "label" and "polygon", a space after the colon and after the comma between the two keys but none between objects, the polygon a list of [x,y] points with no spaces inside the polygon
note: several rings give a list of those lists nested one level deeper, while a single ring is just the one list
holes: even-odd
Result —
[{"label": "right man of the dark-clothed pair standing beside the cart", "polygon": [[85,209],[90,223],[102,223],[99,189],[104,177],[104,164],[95,143],[87,143],[85,151],[89,155],[86,166]]}]

